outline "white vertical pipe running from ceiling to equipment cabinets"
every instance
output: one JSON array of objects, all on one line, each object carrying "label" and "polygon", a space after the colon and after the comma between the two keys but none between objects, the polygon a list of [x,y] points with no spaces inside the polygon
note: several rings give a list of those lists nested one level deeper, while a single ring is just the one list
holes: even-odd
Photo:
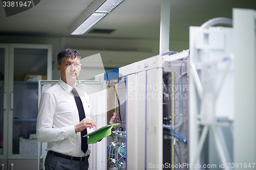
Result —
[{"label": "white vertical pipe running from ceiling to equipment cabinets", "polygon": [[170,0],[161,2],[159,55],[169,51]]}]

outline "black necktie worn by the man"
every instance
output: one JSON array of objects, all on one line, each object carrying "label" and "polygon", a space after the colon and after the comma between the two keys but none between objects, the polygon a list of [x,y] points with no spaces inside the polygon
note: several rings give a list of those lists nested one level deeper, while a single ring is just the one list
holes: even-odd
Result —
[{"label": "black necktie worn by the man", "polygon": [[[82,101],[81,101],[81,99],[78,95],[78,92],[75,88],[73,88],[73,90],[71,92],[72,92],[72,94],[74,94],[76,106],[77,106],[78,113],[79,113],[79,119],[81,122],[81,120],[83,118],[86,118],[86,114],[84,114],[84,110],[83,110],[83,106],[82,106]],[[82,149],[83,153],[86,153],[86,151],[88,150],[88,144],[87,144],[87,137],[83,137],[84,135],[87,135],[87,128],[81,132],[81,149]]]}]

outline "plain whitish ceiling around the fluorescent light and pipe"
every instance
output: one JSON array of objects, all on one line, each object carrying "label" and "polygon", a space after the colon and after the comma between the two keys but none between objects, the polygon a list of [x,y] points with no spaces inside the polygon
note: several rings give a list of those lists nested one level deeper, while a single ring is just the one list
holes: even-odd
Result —
[{"label": "plain whitish ceiling around the fluorescent light and pipe", "polygon": [[[189,26],[214,17],[232,17],[232,8],[256,9],[255,0],[170,0],[170,41],[188,41]],[[159,39],[161,0],[125,0],[93,28],[111,34],[70,35],[69,27],[93,0],[41,0],[35,7],[6,17],[0,6],[0,36]]]}]

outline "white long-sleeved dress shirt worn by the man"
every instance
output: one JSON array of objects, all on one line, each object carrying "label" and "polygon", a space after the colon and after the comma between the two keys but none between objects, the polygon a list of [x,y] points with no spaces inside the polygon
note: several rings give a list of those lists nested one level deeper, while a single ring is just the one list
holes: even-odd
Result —
[{"label": "white long-sleeved dress shirt worn by the man", "polygon": [[[75,87],[83,104],[86,118],[90,118],[91,108],[89,96]],[[36,123],[36,137],[39,142],[48,142],[46,151],[54,151],[65,155],[83,157],[91,153],[91,145],[83,153],[81,150],[80,132],[75,132],[79,123],[79,113],[71,93],[72,87],[59,79],[58,84],[42,93]],[[87,128],[87,132],[92,130]]]}]

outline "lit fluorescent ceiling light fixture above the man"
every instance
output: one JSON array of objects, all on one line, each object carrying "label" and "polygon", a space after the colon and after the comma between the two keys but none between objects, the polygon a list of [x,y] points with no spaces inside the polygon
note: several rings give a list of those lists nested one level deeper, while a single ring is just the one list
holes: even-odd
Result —
[{"label": "lit fluorescent ceiling light fixture above the man", "polygon": [[100,19],[110,13],[124,0],[106,0],[96,11],[93,12],[80,26],[78,26],[71,35],[82,35],[92,28]]}]

